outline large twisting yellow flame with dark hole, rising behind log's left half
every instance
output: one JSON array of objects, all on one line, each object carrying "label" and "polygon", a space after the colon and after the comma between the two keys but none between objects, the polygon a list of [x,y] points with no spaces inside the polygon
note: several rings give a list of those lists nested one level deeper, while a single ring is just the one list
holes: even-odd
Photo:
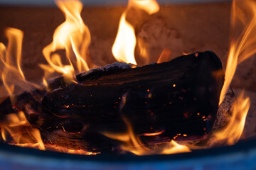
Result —
[{"label": "large twisting yellow flame with dark hole, rising behind log's left half", "polygon": [[[70,81],[74,79],[75,71],[87,71],[89,66],[88,47],[90,45],[90,30],[82,21],[80,13],[82,3],[77,0],[55,1],[57,6],[65,15],[65,22],[56,28],[53,35],[53,42],[43,48],[43,55],[48,65],[41,64],[46,74],[44,79],[48,79],[50,72],[59,72]],[[57,50],[65,50],[68,64],[63,64],[60,55],[53,53]]]}]

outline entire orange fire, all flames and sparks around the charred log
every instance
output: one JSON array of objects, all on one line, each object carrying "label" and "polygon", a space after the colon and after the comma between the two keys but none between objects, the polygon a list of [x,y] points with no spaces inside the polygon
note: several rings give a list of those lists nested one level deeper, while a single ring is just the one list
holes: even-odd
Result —
[{"label": "entire orange fire, all flames and sparks around the charred log", "polygon": [[[87,71],[93,67],[89,58],[90,31],[89,28],[85,26],[85,23],[80,16],[82,3],[78,0],[58,0],[55,2],[60,10],[63,11],[65,22],[56,28],[53,35],[53,42],[43,48],[43,55],[46,58],[48,65],[40,64],[40,66],[45,70],[43,85],[46,89],[48,88],[48,79],[52,77],[55,72],[63,74],[66,82],[75,82],[75,73]],[[243,7],[250,9],[252,16],[249,21],[248,18],[242,18],[242,15],[240,15],[239,12],[242,11],[240,10],[241,5],[237,5],[237,3],[242,3]],[[233,34],[230,36],[230,52],[225,70],[225,83],[220,94],[220,103],[222,103],[226,91],[230,86],[237,65],[248,57],[254,55],[256,52],[256,39],[254,38],[254,30],[256,26],[255,7],[256,3],[252,0],[233,1],[231,20],[231,30]],[[134,57],[137,37],[135,35],[134,27],[126,20],[127,13],[131,8],[146,11],[146,13],[149,13],[150,15],[159,11],[159,4],[157,4],[155,0],[130,0],[127,9],[122,13],[120,18],[119,29],[112,47],[112,53],[119,62],[137,64]],[[238,21],[241,19],[242,23],[245,24],[245,30],[237,36],[235,34],[235,29],[237,28]],[[7,28],[5,34],[9,40],[9,45],[6,47],[4,44],[0,43],[0,74],[4,84],[4,89],[0,89],[0,91],[3,92],[3,96],[10,96],[13,106],[15,106],[16,98],[14,97],[14,94],[18,94],[21,91],[30,91],[35,88],[40,89],[41,87],[26,81],[26,77],[21,69],[23,32],[16,28]],[[138,47],[141,49],[141,55],[146,57],[146,48],[142,45],[140,40],[138,41]],[[68,64],[62,60],[62,57],[58,54],[58,50],[65,50],[65,57]],[[170,50],[164,49],[159,57],[158,63],[166,62],[169,59],[170,54]],[[176,84],[173,84],[173,87],[176,87]],[[149,92],[149,89],[147,92]],[[125,101],[126,97],[124,95],[122,98],[122,105],[125,104]],[[215,140],[224,140],[228,145],[233,145],[235,142],[238,142],[245,125],[245,118],[249,108],[249,98],[244,98],[243,94],[241,94],[233,105],[233,113],[229,117],[228,125],[222,130],[213,133]],[[192,148],[189,146],[179,145],[175,142],[176,137],[174,137],[174,140],[161,142],[161,144],[144,144],[140,139],[141,136],[156,137],[161,135],[164,130],[136,135],[129,120],[124,117],[123,120],[127,125],[127,132],[124,132],[123,134],[102,132],[102,135],[122,142],[120,147],[124,151],[132,152],[137,155],[191,152]],[[43,144],[40,130],[33,127],[33,125],[28,122],[23,111],[16,111],[16,113],[5,115],[5,120],[0,121],[0,128],[3,140],[12,145],[36,147],[42,150],[53,149],[55,151],[70,154],[99,154],[96,152],[87,152],[82,149],[75,150],[53,145],[46,146]],[[183,136],[186,137],[186,134],[183,134]]]}]

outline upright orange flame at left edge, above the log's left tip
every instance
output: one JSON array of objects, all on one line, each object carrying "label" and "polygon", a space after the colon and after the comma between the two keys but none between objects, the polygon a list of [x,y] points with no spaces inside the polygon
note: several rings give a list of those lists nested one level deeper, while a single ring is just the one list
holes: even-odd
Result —
[{"label": "upright orange flame at left edge, above the log's left tip", "polygon": [[[36,84],[26,81],[21,70],[23,32],[16,28],[6,28],[5,35],[9,40],[8,46],[0,42],[0,74],[5,88],[3,91],[12,96],[29,91],[32,87],[39,88]],[[6,92],[1,95],[7,95]]]}]

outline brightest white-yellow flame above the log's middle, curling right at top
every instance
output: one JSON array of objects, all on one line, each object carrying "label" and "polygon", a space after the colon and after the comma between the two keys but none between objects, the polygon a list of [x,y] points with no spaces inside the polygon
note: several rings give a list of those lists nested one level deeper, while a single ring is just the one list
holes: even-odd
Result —
[{"label": "brightest white-yellow flame above the log's middle, curling right at top", "polygon": [[112,54],[119,62],[137,64],[134,57],[137,42],[135,30],[133,26],[126,21],[127,12],[130,8],[144,10],[150,15],[159,11],[159,4],[154,0],[129,0],[128,7],[120,18],[117,37],[112,46]]}]

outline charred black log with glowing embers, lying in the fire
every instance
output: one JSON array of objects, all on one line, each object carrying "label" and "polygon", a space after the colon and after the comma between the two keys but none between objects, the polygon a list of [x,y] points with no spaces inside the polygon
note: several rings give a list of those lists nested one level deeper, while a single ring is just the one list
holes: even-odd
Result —
[{"label": "charred black log with glowing embers, lying in the fire", "polygon": [[127,132],[127,122],[145,145],[203,140],[216,119],[224,73],[219,58],[207,51],[144,67],[110,64],[76,79],[65,84],[59,77],[50,91],[25,92],[13,109],[8,98],[0,115],[23,111],[46,146],[90,152],[118,149],[122,142],[105,134]]}]

